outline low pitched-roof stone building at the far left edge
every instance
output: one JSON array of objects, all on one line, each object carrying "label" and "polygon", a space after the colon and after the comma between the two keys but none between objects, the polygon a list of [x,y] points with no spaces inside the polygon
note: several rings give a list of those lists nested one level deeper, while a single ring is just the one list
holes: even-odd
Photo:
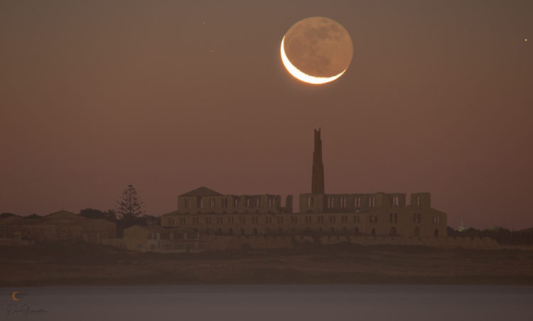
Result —
[{"label": "low pitched-roof stone building at the far left edge", "polygon": [[40,218],[11,216],[0,221],[0,239],[32,242],[80,241],[100,243],[104,238],[116,238],[117,225],[104,219],[58,211]]}]

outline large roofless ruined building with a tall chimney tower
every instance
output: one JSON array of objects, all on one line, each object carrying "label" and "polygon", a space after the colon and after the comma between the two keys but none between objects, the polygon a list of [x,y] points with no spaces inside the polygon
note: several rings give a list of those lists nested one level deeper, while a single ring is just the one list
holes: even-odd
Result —
[{"label": "large roofless ruined building with a tall chimney tower", "polygon": [[178,209],[161,217],[161,226],[218,235],[387,235],[446,236],[446,214],[431,208],[431,194],[324,194],[321,130],[315,130],[311,194],[223,195],[200,187],[178,196]]}]

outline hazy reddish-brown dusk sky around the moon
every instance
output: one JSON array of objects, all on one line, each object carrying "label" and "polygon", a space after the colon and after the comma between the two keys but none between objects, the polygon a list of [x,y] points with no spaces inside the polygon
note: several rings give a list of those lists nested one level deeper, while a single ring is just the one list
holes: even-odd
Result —
[{"label": "hazy reddish-brown dusk sky around the moon", "polygon": [[[296,21],[354,43],[334,83],[279,57]],[[530,41],[524,41],[530,37]],[[148,214],[176,195],[429,191],[448,225],[533,226],[533,1],[1,1],[0,212]]]}]

